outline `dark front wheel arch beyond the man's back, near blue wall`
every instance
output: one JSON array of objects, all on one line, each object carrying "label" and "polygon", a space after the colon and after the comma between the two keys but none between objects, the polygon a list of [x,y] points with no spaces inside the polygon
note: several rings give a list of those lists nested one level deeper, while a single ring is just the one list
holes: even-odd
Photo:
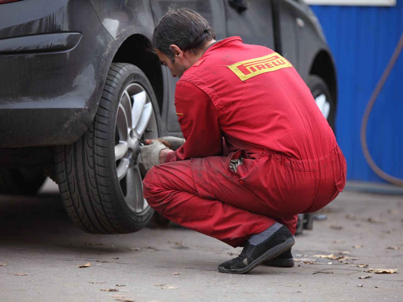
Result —
[{"label": "dark front wheel arch beyond the man's back, near blue wall", "polygon": [[[334,100],[334,105],[337,106],[337,79],[336,68],[330,54],[326,50],[320,50],[310,68],[311,75],[321,77],[329,87],[330,94]],[[337,107],[335,107],[337,108]]]}]

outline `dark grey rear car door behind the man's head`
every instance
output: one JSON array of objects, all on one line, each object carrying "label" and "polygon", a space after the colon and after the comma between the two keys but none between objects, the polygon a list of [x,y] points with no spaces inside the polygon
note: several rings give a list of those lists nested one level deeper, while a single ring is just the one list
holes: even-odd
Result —
[{"label": "dark grey rear car door behind the man's head", "polygon": [[[222,1],[217,0],[150,0],[150,4],[154,13],[154,21],[158,20],[168,11],[169,7],[187,7],[195,10],[202,15],[210,24],[216,33],[216,39],[224,39],[226,37],[225,10]],[[182,136],[179,127],[178,117],[174,105],[175,85],[178,78],[172,78],[168,67],[163,67],[166,82],[166,92],[168,102],[164,102],[162,108],[162,123],[166,125],[166,133],[171,135]]]}]

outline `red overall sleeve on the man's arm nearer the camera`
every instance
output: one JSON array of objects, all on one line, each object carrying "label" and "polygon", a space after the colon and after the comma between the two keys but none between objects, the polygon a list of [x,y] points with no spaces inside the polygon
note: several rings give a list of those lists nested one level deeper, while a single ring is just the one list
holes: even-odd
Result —
[{"label": "red overall sleeve on the man's arm nearer the camera", "polygon": [[165,162],[222,154],[222,133],[217,109],[210,97],[196,85],[179,81],[175,108],[185,144],[166,156]]}]

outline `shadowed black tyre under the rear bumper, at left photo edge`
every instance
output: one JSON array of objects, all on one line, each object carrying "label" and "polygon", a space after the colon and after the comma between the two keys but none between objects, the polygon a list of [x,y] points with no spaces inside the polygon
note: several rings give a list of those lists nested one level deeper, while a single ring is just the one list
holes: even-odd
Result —
[{"label": "shadowed black tyre under the rear bumper, at left photo edge", "polygon": [[34,195],[46,177],[39,168],[0,168],[0,193]]}]

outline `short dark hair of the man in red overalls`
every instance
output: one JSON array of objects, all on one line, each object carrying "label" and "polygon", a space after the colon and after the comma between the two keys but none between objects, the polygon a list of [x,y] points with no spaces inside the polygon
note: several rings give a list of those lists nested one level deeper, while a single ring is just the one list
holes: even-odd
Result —
[{"label": "short dark hair of the man in red overalls", "polygon": [[197,12],[190,8],[170,8],[158,21],[151,44],[173,62],[174,54],[169,48],[171,44],[183,51],[197,53],[205,42],[215,38],[213,29]]}]

